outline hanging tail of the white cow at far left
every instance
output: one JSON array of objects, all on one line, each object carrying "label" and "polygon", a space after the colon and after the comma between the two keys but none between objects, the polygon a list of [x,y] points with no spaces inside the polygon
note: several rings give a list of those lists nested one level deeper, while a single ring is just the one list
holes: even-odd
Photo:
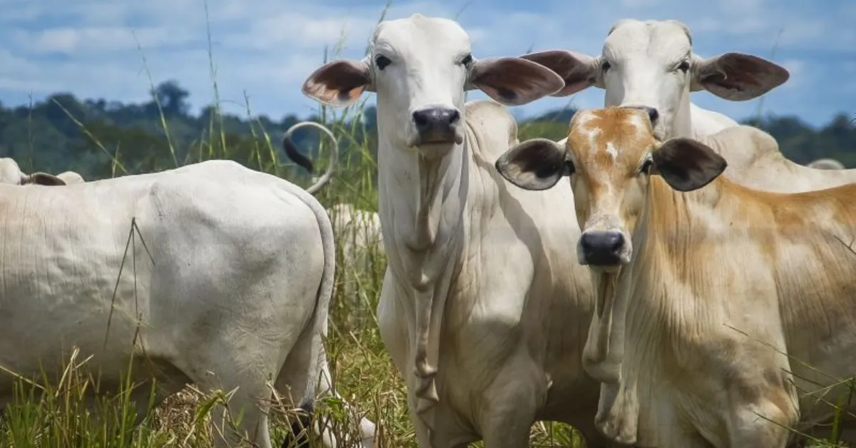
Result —
[{"label": "hanging tail of the white cow at far left", "polygon": [[[300,403],[300,408],[306,411],[307,414],[312,414],[314,410],[314,401],[316,397],[336,397],[342,405],[352,410],[349,415],[356,415],[355,409],[336,392],[333,387],[333,380],[330,376],[330,367],[327,363],[327,350],[324,349],[324,339],[327,337],[328,320],[330,314],[330,301],[333,296],[333,286],[336,275],[336,246],[333,235],[333,226],[330,224],[330,217],[324,210],[324,207],[311,194],[307,194],[302,188],[294,188],[294,193],[303,200],[312,212],[315,213],[315,218],[318,220],[318,229],[321,231],[321,243],[324,248],[324,270],[321,274],[321,282],[318,285],[318,296],[315,302],[314,316],[312,320],[312,365],[310,366],[309,379],[306,382],[306,391],[303,394],[303,401]],[[308,418],[304,421],[295,422],[298,425],[306,427]],[[295,430],[299,427],[295,427]],[[318,425],[318,421],[313,425],[313,432],[321,436],[324,440],[324,445],[328,447],[336,446],[336,437],[330,431],[330,428],[323,428]],[[299,433],[296,431],[295,433]],[[361,444],[363,448],[373,448],[375,436],[375,424],[366,419],[360,418],[360,435],[362,437]],[[301,440],[302,442],[302,440]],[[303,446],[303,445],[298,445]],[[308,445],[306,445],[308,446]],[[348,444],[348,446],[351,446]]]}]

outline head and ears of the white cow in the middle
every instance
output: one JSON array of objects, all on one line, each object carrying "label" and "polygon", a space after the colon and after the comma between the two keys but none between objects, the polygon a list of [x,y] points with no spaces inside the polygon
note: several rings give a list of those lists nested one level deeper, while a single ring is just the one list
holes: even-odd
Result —
[{"label": "head and ears of the white cow in the middle", "polygon": [[371,53],[316,70],[303,93],[325,105],[354,105],[377,93],[378,131],[396,147],[442,154],[464,140],[467,90],[504,105],[524,105],[555,93],[562,78],[518,57],[477,60],[467,33],[447,19],[413,15],[377,25]]}]

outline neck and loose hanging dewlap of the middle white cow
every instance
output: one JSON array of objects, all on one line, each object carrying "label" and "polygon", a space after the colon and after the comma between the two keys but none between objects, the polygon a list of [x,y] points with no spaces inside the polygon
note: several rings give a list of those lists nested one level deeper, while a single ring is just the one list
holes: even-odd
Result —
[{"label": "neck and loose hanging dewlap of the middle white cow", "polygon": [[[464,119],[461,116],[462,122]],[[394,291],[395,300],[407,320],[415,323],[415,347],[411,347],[413,373],[419,381],[415,387],[417,415],[433,429],[433,410],[439,401],[434,378],[443,310],[455,265],[464,250],[467,230],[463,224],[469,216],[470,137],[467,133],[462,144],[425,157],[417,148],[396,145],[390,126],[395,124],[378,119],[378,214],[389,270],[395,284],[403,287]],[[398,296],[405,290],[405,296]]]}]

